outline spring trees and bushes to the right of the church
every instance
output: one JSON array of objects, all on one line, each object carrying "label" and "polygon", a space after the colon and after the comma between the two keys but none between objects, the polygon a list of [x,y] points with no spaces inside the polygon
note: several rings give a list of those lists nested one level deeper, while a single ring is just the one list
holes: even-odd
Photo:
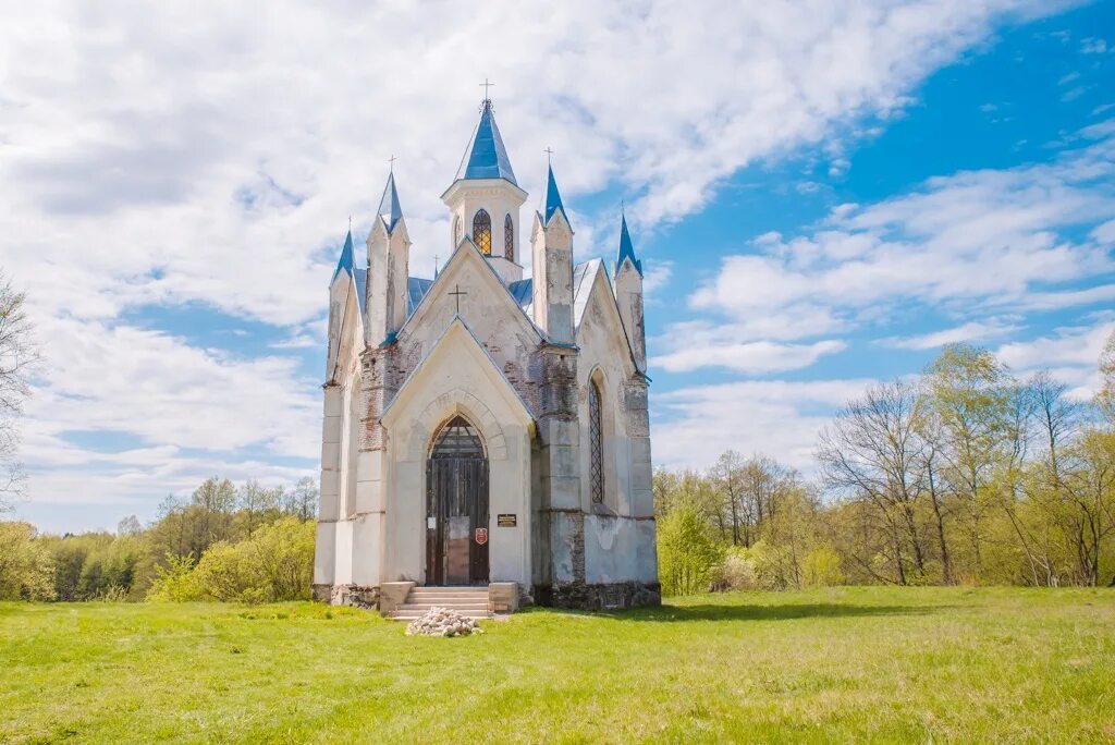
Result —
[{"label": "spring trees and bushes to the right of the church", "polygon": [[1080,400],[954,345],[849,401],[811,478],[734,451],[660,470],[663,589],[1115,586],[1115,335],[1099,374]]}]

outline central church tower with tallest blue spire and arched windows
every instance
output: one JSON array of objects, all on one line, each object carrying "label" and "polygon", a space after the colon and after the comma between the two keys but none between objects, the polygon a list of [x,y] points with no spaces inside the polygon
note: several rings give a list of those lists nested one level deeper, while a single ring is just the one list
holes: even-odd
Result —
[{"label": "central church tower with tallest blue spire and arched windows", "polygon": [[515,181],[487,98],[481,104],[481,119],[442,201],[449,207],[452,250],[471,238],[504,283],[523,279],[518,209],[526,201],[526,192]]}]

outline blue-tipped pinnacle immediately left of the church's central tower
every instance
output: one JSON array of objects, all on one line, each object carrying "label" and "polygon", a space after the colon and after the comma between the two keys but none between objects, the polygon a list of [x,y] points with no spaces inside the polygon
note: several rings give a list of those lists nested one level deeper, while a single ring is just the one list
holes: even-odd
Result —
[{"label": "blue-tipped pinnacle immediately left of the church's central tower", "polygon": [[368,234],[368,322],[365,326],[368,346],[390,340],[407,320],[410,236],[395,187],[394,171],[387,176],[376,215]]}]

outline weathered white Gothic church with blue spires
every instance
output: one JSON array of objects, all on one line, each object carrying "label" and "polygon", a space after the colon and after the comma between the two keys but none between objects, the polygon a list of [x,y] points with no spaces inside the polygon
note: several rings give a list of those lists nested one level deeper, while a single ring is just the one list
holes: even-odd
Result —
[{"label": "weathered white Gothic church with blue spires", "polygon": [[512,606],[658,603],[627,221],[614,281],[574,264],[551,167],[524,230],[488,99],[442,200],[452,255],[433,280],[410,275],[392,173],[367,262],[350,232],[329,288],[314,596],[382,608],[400,584],[498,584]]}]

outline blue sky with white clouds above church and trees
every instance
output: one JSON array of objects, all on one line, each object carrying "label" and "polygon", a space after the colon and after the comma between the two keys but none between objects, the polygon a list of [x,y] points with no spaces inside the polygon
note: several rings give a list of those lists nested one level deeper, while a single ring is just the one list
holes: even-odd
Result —
[{"label": "blue sky with white clouds above church and trees", "polygon": [[809,473],[836,409],[949,342],[1096,387],[1115,0],[312,4],[2,12],[0,270],[43,356],[17,516],[314,475],[349,216],[362,243],[396,157],[433,274],[486,78],[527,206],[554,151],[578,260],[626,204],[656,465]]}]

